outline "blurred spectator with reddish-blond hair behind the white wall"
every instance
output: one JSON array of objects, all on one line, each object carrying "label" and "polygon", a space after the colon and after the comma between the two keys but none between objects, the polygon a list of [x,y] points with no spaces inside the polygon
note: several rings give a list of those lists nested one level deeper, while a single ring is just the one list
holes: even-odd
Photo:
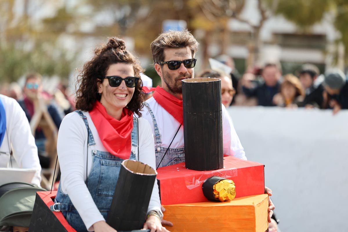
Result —
[{"label": "blurred spectator with reddish-blond hair behind the white wall", "polygon": [[292,74],[284,76],[280,93],[273,98],[274,104],[282,107],[297,107],[303,101],[304,90],[300,80]]}]

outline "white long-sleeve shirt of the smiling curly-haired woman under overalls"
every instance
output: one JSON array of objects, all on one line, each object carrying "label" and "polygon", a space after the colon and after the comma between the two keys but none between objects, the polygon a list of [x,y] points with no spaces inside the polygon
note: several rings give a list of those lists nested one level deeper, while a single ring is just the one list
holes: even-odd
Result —
[{"label": "white long-sleeve shirt of the smiling curly-haired woman under overalls", "polygon": [[[87,117],[95,145],[88,147],[88,133],[84,121],[76,112],[66,115],[58,131],[57,152],[61,168],[61,188],[64,194],[68,194],[74,207],[77,209],[88,231],[93,231],[92,225],[99,221],[105,221],[104,217],[95,205],[85,184],[86,177],[92,165],[92,150],[106,151],[98,132],[88,112],[83,112]],[[139,118],[139,161],[156,169],[155,148],[153,135],[149,123]],[[133,150],[133,148],[132,148]],[[137,153],[137,149],[134,149]],[[86,161],[88,154],[88,167],[86,173]],[[159,192],[157,183],[154,184],[148,207],[150,210],[160,210]]]}]

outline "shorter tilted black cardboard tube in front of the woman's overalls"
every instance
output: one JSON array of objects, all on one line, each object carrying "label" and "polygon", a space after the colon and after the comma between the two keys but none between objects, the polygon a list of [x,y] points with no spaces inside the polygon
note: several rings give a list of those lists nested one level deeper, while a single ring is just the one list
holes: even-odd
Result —
[{"label": "shorter tilted black cardboard tube in front of the woman's overalls", "polygon": [[111,227],[117,231],[143,228],[156,175],[156,170],[142,162],[122,162],[106,219]]}]

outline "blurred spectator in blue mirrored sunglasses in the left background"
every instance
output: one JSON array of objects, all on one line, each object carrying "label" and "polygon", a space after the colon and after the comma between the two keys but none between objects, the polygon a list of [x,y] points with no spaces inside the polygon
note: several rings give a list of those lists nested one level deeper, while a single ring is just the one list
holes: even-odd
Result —
[{"label": "blurred spectator in blue mirrored sunglasses in the left background", "polygon": [[[30,73],[26,75],[25,85],[23,88],[25,97],[23,100],[18,101],[29,122],[35,113],[33,102],[39,97],[44,97],[42,93],[41,80],[42,77],[38,73]],[[47,110],[57,129],[59,129],[64,117],[62,110],[60,110],[53,101],[47,104]],[[40,128],[37,128],[35,131],[35,144],[38,147],[38,154],[42,168],[48,168],[49,166],[49,158],[45,155],[45,142],[46,138],[44,132]]]}]

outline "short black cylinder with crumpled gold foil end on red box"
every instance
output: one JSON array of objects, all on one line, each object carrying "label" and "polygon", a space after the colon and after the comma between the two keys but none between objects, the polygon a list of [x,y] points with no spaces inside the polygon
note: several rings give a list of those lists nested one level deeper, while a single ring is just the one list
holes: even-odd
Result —
[{"label": "short black cylinder with crumpled gold foil end on red box", "polygon": [[236,197],[235,183],[219,176],[212,176],[202,185],[204,196],[210,201],[230,201]]}]

